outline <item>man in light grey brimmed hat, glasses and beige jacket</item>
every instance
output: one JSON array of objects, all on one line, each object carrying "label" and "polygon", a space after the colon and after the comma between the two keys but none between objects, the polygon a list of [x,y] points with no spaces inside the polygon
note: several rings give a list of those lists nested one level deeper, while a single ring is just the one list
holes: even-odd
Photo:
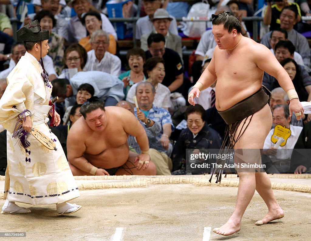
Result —
[{"label": "man in light grey brimmed hat, glasses and beige jacket", "polygon": [[183,59],[183,54],[181,51],[181,37],[179,35],[169,32],[169,27],[171,25],[172,20],[173,18],[169,16],[169,13],[165,9],[163,8],[157,9],[152,19],[154,30],[152,32],[142,35],[140,39],[141,43],[140,47],[143,50],[147,51],[148,50],[147,39],[149,35],[152,33],[162,34],[165,38],[165,48],[173,49],[179,54],[179,57]]}]

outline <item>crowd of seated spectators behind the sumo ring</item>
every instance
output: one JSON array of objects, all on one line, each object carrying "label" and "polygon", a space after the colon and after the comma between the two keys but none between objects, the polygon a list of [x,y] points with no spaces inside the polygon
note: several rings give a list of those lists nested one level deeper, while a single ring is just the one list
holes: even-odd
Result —
[{"label": "crowd of seated spectators behind the sumo ring", "polygon": [[[120,17],[138,17],[137,22],[110,22],[110,3],[119,5]],[[239,19],[241,34],[247,38],[253,38],[254,25],[243,18],[254,14],[262,16],[260,36],[254,40],[269,48],[284,67],[299,100],[311,101],[308,41],[311,18],[302,20],[303,16],[311,16],[311,1],[179,3],[168,0],[1,0],[0,98],[7,76],[26,53],[24,44],[13,37],[11,21],[17,19],[14,24],[17,22],[19,29],[38,20],[43,30],[49,30],[50,49],[42,61],[53,85],[52,97],[59,97],[55,108],[62,118],[62,125],[51,129],[68,157],[72,156],[72,148],[67,150],[66,145],[72,146],[73,141],[69,133],[77,120],[85,118],[80,108],[88,98],[97,96],[104,107],[127,109],[119,110],[129,115],[126,117],[129,120],[135,116],[142,125],[141,131],[144,130],[149,142],[150,160],[155,165],[152,164],[149,174],[204,173],[187,171],[186,149],[198,153],[202,149],[219,149],[222,144],[225,122],[215,107],[217,81],[201,92],[195,106],[189,106],[187,99],[189,90],[210,63],[216,42],[211,21],[195,23],[204,30],[198,38],[184,34],[191,32],[185,29],[195,28],[195,24],[187,25],[176,18],[180,12],[190,14],[195,4],[206,4],[208,13],[202,17],[229,11]],[[133,39],[133,36],[139,47],[121,46],[121,39]],[[193,46],[183,46],[184,40],[189,39]],[[189,50],[193,53],[189,54]],[[310,173],[311,114],[304,114],[300,121],[290,117],[289,99],[274,76],[264,72],[263,85],[272,92],[269,105],[273,116],[262,152],[265,171]],[[283,137],[277,137],[276,141],[274,138],[279,127],[290,130],[290,136],[281,146],[276,142]],[[136,132],[124,133],[130,153],[142,153]],[[0,126],[0,175],[5,174],[7,167],[6,148],[6,130]],[[68,160],[70,162],[70,158]],[[79,170],[76,173],[80,173]],[[112,172],[115,173],[117,169]]]}]

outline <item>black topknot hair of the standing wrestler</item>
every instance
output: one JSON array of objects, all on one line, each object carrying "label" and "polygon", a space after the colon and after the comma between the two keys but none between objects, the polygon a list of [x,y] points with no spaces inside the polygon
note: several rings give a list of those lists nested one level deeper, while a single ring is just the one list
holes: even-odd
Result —
[{"label": "black topknot hair of the standing wrestler", "polygon": [[238,33],[241,33],[241,23],[239,19],[231,15],[229,11],[224,11],[218,15],[212,14],[213,25],[224,25],[224,28],[231,33],[232,30],[236,29]]}]

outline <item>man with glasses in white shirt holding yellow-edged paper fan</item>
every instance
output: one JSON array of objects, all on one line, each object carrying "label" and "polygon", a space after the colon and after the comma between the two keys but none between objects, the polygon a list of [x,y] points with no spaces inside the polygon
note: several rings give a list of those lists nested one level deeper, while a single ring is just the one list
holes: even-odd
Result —
[{"label": "man with glasses in white shirt holding yellow-edged paper fan", "polygon": [[[290,157],[302,127],[290,124],[291,117],[287,104],[277,104],[273,107],[272,121],[275,126],[281,125],[282,127],[290,129],[291,134],[286,140],[284,146],[275,147],[275,143],[272,142],[272,137],[275,135],[275,129],[273,128],[269,132],[263,145],[262,154],[267,155],[271,159],[273,165],[266,171],[268,173],[286,173],[290,169]],[[265,162],[264,164],[267,166],[267,160],[265,160],[264,156],[262,159],[262,163]]]}]

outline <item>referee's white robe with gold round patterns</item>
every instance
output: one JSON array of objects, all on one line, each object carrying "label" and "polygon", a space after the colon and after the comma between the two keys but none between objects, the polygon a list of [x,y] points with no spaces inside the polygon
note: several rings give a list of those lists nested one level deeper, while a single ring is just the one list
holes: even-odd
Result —
[{"label": "referee's white robe with gold round patterns", "polygon": [[[7,77],[8,86],[0,100],[0,124],[7,129],[4,199],[33,205],[67,202],[80,196],[63,148],[46,124],[52,88],[44,84],[42,72],[39,62],[26,52]],[[25,109],[31,112],[32,127],[54,140],[57,151],[47,149],[32,135],[25,150],[19,139],[12,137],[17,116]]]}]

